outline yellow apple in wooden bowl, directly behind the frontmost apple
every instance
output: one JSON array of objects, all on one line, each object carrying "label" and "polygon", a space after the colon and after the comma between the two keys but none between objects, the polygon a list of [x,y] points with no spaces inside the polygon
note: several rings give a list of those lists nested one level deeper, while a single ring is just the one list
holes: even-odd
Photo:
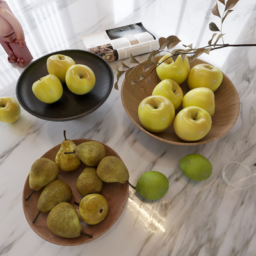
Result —
[{"label": "yellow apple in wooden bowl, directly behind the frontmost apple", "polygon": [[190,90],[183,97],[182,108],[189,106],[197,106],[205,109],[211,116],[214,115],[215,111],[215,95],[211,89],[206,87],[199,87]]}]

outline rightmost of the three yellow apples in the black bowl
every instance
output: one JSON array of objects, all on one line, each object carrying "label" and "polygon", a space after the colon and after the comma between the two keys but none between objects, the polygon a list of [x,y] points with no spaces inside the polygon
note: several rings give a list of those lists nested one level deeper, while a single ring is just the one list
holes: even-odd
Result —
[{"label": "rightmost of the three yellow apples in the black bowl", "polygon": [[76,64],[68,68],[66,73],[68,89],[75,94],[83,95],[92,90],[95,85],[93,70],[83,64]]}]

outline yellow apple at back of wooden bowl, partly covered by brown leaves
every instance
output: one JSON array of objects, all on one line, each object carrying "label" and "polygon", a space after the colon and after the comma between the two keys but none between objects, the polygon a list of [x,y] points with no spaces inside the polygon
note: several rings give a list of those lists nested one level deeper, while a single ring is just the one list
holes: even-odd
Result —
[{"label": "yellow apple at back of wooden bowl, partly covered by brown leaves", "polygon": [[190,65],[187,56],[184,61],[179,55],[177,60],[173,61],[172,53],[164,55],[157,63],[157,76],[161,79],[172,79],[176,83],[183,83],[188,77]]}]

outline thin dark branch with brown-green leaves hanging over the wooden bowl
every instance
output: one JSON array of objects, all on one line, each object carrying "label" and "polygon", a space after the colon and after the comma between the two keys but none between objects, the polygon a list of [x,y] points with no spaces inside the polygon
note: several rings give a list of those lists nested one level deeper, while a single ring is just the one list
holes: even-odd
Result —
[{"label": "thin dark branch with brown-green leaves hanging over the wooden bowl", "polygon": [[[220,9],[218,2],[223,4],[221,8],[223,9],[223,13],[220,14]],[[212,34],[212,38],[209,40],[208,45],[205,45],[204,47],[199,47],[199,48],[193,48],[193,44],[189,45],[183,45],[185,49],[172,49],[178,45],[181,40],[175,36],[171,35],[168,36],[167,38],[161,37],[159,38],[159,49],[152,51],[150,55],[148,56],[147,61],[144,63],[140,63],[132,54],[130,54],[130,59],[129,62],[131,64],[135,64],[134,67],[129,67],[122,63],[122,70],[117,69],[117,75],[116,75],[116,83],[115,83],[115,89],[118,90],[118,81],[120,77],[126,72],[125,76],[127,76],[134,68],[137,70],[140,79],[138,81],[135,81],[132,79],[132,84],[134,85],[134,89],[138,87],[140,89],[141,83],[143,81],[146,81],[148,85],[150,85],[150,74],[156,69],[157,66],[161,65],[161,63],[156,61],[156,57],[159,53],[162,52],[168,52],[170,53],[170,57],[172,58],[173,61],[176,61],[178,56],[180,55],[182,57],[182,60],[184,58],[188,58],[189,63],[196,58],[198,58],[200,55],[206,53],[210,54],[211,51],[217,50],[217,49],[223,49],[226,47],[248,47],[248,46],[256,46],[256,44],[225,44],[223,40],[223,36],[225,33],[222,32],[223,29],[223,22],[227,18],[227,16],[232,13],[234,10],[232,8],[239,2],[239,0],[227,0],[227,3],[225,3],[225,0],[217,0],[215,6],[212,8],[212,14],[215,15],[216,17],[219,17],[221,19],[220,22],[220,29],[218,26],[214,23],[211,22],[209,24],[209,29],[215,33]],[[218,44],[219,40],[222,40],[222,44]],[[215,41],[214,41],[215,40]],[[167,60],[167,59],[166,59]],[[165,60],[164,60],[165,61]],[[153,67],[154,65],[154,67]],[[153,67],[153,68],[152,68]],[[142,68],[142,72],[141,71]],[[150,70],[150,73],[145,75],[145,72]]]}]

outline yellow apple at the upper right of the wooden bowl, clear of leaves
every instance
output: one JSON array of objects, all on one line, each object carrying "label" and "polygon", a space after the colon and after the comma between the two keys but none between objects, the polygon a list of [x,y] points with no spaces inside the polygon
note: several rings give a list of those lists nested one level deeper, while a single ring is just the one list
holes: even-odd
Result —
[{"label": "yellow apple at the upper right of the wooden bowl, clear of leaves", "polygon": [[198,87],[207,87],[215,92],[223,79],[221,70],[210,64],[198,64],[191,68],[188,75],[188,87],[190,90]]}]

